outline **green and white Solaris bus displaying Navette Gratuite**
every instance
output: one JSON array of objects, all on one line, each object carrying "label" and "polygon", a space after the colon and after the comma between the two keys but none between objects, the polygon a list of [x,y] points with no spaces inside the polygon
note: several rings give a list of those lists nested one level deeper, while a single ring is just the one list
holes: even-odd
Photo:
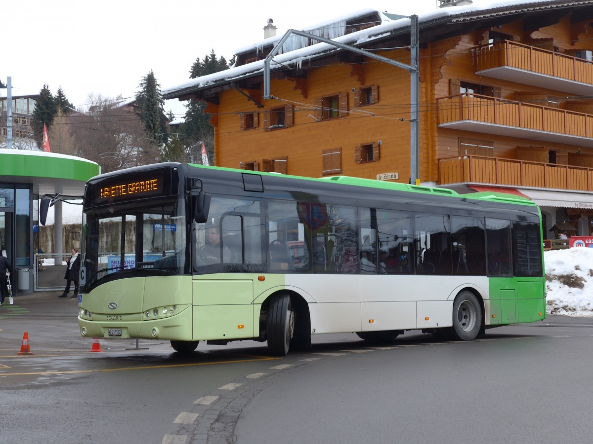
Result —
[{"label": "green and white Solaris bus displaying Navette Gratuite", "polygon": [[160,163],[95,176],[83,205],[85,337],[285,355],[546,317],[540,211],[514,195]]}]

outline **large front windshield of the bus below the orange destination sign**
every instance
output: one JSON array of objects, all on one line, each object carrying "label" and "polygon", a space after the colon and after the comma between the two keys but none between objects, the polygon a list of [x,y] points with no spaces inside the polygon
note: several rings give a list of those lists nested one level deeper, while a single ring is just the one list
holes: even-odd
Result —
[{"label": "large front windshield of the bus below the orange destination sign", "polygon": [[115,204],[83,215],[81,259],[85,288],[122,272],[181,274],[186,263],[183,200]]}]

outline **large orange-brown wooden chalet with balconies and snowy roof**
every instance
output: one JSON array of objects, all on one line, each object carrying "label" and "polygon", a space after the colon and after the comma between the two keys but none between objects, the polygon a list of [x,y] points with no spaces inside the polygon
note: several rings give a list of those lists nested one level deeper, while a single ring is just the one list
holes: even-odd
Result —
[{"label": "large orange-brown wooden chalet with balconies and snowy roof", "polygon": [[[526,195],[550,237],[562,224],[593,234],[593,0],[457,3],[418,17],[421,184]],[[411,63],[408,17],[367,9],[304,32]],[[208,104],[215,164],[407,183],[410,73],[294,35],[266,100],[264,59],[281,37],[165,89]]]}]

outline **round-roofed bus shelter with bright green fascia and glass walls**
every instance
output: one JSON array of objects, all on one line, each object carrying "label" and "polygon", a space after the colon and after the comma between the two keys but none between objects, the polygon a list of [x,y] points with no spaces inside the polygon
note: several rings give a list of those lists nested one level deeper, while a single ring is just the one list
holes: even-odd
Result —
[{"label": "round-roofed bus shelter with bright green fascia and glass walls", "polygon": [[[0,244],[12,264],[13,295],[33,292],[35,258],[40,252],[34,236],[39,228],[39,198],[56,193],[82,196],[87,180],[99,173],[97,163],[80,157],[0,149]],[[52,253],[61,258],[62,202],[56,203],[54,217]]]}]

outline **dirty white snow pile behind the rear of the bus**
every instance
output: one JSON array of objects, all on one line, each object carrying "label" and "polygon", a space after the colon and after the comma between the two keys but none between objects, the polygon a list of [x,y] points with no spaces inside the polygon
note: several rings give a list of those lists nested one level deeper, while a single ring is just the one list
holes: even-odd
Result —
[{"label": "dirty white snow pile behind the rear of the bus", "polygon": [[544,253],[548,314],[593,317],[593,248]]}]

